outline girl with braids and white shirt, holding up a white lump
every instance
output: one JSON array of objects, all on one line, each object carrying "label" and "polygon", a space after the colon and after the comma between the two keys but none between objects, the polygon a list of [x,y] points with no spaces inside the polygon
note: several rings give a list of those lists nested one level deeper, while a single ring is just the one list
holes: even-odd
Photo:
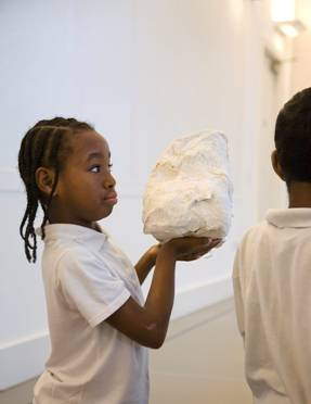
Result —
[{"label": "girl with braids and white shirt, holding up a white lump", "polygon": [[[21,236],[29,262],[36,261],[38,204],[44,213],[39,232],[51,355],[36,404],[146,404],[146,348],[165,340],[176,261],[195,260],[220,241],[174,239],[152,247],[133,267],[96,223],[117,203],[111,167],[106,140],[74,118],[40,121],[22,141]],[[140,283],[154,265],[144,302]]]}]

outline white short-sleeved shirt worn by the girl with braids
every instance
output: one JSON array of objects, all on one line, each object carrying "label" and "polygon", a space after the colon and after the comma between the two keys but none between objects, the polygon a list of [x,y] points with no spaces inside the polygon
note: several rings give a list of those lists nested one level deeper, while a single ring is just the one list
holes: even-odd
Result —
[{"label": "white short-sleeved shirt worn by the girl with braids", "polygon": [[131,295],[137,273],[106,233],[46,226],[42,273],[51,356],[35,386],[36,404],[146,404],[147,349],[104,321]]}]

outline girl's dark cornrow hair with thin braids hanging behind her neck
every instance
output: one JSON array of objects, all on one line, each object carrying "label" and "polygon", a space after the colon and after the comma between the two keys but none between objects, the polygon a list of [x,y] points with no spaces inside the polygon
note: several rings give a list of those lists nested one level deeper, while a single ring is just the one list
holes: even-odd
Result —
[{"label": "girl's dark cornrow hair with thin braids hanging behind her neck", "polygon": [[[20,226],[20,233],[24,240],[25,253],[29,262],[35,263],[37,258],[37,237],[34,222],[38,205],[40,203],[43,210],[41,224],[43,239],[44,225],[49,219],[49,206],[57,185],[59,174],[64,166],[64,159],[72,151],[68,136],[82,130],[94,130],[94,128],[75,118],[55,117],[39,121],[22,140],[18,169],[27,193],[27,206]],[[36,171],[40,166],[52,167],[55,171],[52,190],[47,200],[42,199],[36,181]]]}]

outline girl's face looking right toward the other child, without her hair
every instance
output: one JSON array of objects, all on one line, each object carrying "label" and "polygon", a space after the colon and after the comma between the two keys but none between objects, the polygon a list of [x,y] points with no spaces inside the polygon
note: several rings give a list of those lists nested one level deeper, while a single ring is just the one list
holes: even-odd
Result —
[{"label": "girl's face looking right toward the other child, without her hair", "polygon": [[72,140],[73,153],[60,172],[51,203],[50,223],[93,227],[117,203],[106,140],[95,131],[81,131]]}]

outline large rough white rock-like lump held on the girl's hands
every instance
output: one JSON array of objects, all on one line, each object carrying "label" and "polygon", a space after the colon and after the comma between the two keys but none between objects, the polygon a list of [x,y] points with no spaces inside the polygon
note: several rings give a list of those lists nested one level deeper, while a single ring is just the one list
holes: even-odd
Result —
[{"label": "large rough white rock-like lump held on the girl's hands", "polygon": [[203,130],[172,141],[151,173],[143,195],[144,232],[158,241],[224,238],[233,187],[226,137]]}]

